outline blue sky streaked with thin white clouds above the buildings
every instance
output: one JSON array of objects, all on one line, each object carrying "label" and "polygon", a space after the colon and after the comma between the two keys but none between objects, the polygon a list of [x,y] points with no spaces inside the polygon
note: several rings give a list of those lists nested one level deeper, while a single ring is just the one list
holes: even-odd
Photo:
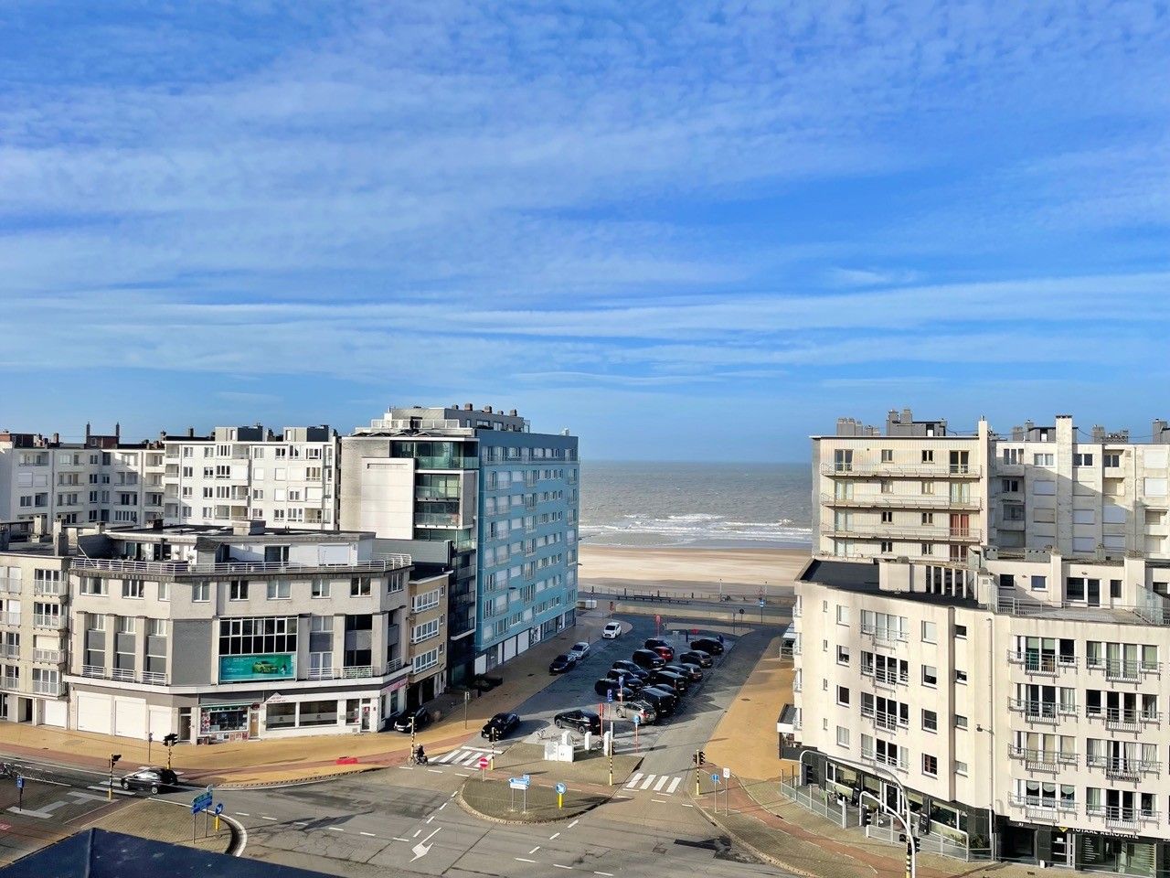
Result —
[{"label": "blue sky streaked with thin white clouds above the buildings", "polygon": [[1165,2],[8,2],[0,427],[1148,434]]}]

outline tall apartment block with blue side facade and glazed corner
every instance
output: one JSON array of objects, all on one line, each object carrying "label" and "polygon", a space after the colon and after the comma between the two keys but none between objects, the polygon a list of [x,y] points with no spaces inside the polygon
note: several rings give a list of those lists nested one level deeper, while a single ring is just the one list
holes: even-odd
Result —
[{"label": "tall apartment block with blue side facade and glazed corner", "polygon": [[453,547],[454,681],[576,624],[577,437],[534,433],[515,410],[391,409],[342,459],[342,527]]}]

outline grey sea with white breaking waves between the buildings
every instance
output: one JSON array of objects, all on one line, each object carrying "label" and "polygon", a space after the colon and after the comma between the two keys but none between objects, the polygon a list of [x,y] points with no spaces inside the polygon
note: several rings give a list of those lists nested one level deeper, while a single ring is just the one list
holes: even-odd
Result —
[{"label": "grey sea with white breaking waves between the buildings", "polygon": [[807,464],[581,461],[580,536],[594,546],[812,546]]}]

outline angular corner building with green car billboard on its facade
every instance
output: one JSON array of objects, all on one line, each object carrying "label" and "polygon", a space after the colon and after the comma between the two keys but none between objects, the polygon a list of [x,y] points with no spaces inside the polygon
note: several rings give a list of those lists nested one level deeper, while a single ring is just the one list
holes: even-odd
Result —
[{"label": "angular corner building with green car billboard on its facade", "polygon": [[372,534],[156,522],[68,551],[70,728],[342,734],[405,705],[411,558]]}]

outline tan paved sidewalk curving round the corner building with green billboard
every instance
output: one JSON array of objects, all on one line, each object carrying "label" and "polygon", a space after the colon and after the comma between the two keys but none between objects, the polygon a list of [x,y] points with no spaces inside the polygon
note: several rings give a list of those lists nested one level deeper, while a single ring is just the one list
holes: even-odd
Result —
[{"label": "tan paved sidewalk curving round the corner building with green billboard", "polygon": [[[442,718],[419,732],[417,743],[425,745],[431,752],[461,745],[477,733],[493,714],[514,709],[552,682],[555,678],[549,674],[549,661],[577,640],[597,640],[606,620],[607,615],[601,612],[580,613],[574,627],[496,668],[493,673],[503,677],[503,684],[472,699],[467,705],[466,726],[462,697],[456,697],[454,709],[450,709],[448,705],[453,698],[440,695],[435,702],[440,705]],[[216,786],[275,784],[400,764],[406,761],[410,749],[408,734],[384,732],[201,747],[181,745],[174,748],[173,759],[174,769],[183,774],[185,781]],[[146,741],[137,739],[15,722],[0,722],[0,753],[16,761],[36,759],[92,770],[104,770],[110,754],[118,753],[122,755],[119,773],[139,766],[166,764],[166,748],[158,742],[147,748]],[[358,763],[337,764],[339,757],[347,756],[357,757]]]}]

